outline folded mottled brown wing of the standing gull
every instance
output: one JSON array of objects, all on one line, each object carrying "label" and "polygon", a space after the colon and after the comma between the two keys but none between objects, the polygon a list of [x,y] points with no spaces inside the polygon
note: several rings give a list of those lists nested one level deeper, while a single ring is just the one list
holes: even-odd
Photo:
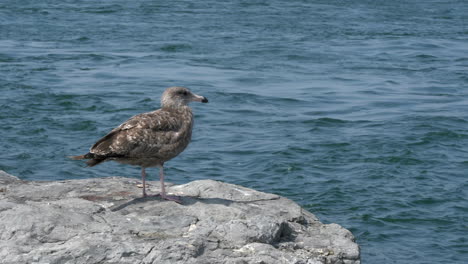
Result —
[{"label": "folded mottled brown wing of the standing gull", "polygon": [[140,152],[154,152],[169,144],[181,127],[182,122],[171,112],[157,110],[139,114],[98,140],[90,152],[115,157],[132,155],[136,149],[141,149]]}]

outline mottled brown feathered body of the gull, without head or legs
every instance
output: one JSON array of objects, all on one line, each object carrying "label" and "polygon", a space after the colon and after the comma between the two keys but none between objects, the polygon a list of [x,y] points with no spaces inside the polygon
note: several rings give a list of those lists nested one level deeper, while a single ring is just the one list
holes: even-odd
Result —
[{"label": "mottled brown feathered body of the gull, without head or legs", "polygon": [[187,147],[192,125],[193,114],[188,106],[139,114],[97,141],[90,153],[121,163],[161,165]]}]

